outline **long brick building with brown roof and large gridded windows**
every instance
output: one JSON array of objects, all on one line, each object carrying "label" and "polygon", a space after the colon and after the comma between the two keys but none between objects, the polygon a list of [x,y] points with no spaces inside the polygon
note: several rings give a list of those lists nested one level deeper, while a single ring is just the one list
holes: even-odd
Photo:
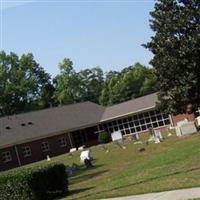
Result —
[{"label": "long brick building with brown roof and large gridded windows", "polygon": [[92,102],[54,107],[0,118],[0,170],[98,144],[98,133],[120,130],[124,136],[149,127],[166,128],[193,115],[171,116],[155,110],[157,94],[110,107]]}]

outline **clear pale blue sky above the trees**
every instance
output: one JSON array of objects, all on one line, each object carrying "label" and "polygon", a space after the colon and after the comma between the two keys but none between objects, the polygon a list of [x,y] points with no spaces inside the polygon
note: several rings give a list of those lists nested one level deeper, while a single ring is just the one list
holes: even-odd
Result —
[{"label": "clear pale blue sky above the trees", "polygon": [[65,57],[76,71],[121,70],[152,54],[141,45],[153,32],[154,0],[0,0],[1,50],[33,53],[52,76]]}]

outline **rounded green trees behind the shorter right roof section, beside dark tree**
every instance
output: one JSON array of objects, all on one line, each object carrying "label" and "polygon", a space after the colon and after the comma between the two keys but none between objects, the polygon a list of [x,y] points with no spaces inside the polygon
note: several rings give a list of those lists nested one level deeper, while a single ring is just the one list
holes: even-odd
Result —
[{"label": "rounded green trees behind the shorter right roof section, beside dark tree", "polygon": [[100,103],[113,105],[157,91],[154,70],[139,63],[107,74]]}]

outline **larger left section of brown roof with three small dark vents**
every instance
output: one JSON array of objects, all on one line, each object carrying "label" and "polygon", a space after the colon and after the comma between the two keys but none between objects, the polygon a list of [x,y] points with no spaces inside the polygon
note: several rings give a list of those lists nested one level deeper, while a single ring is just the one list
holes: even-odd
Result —
[{"label": "larger left section of brown roof with three small dark vents", "polygon": [[[96,125],[101,120],[104,110],[105,108],[98,104],[84,102],[2,117],[0,147]],[[28,124],[30,122],[32,124]]]}]

